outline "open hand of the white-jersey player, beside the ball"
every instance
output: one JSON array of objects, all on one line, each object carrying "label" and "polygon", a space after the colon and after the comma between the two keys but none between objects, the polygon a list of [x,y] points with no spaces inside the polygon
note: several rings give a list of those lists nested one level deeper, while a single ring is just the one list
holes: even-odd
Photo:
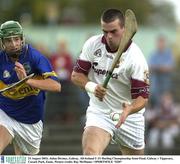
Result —
[{"label": "open hand of the white-jersey player, beside the ball", "polygon": [[123,103],[122,107],[123,107],[123,112],[120,114],[119,121],[115,126],[116,128],[119,128],[125,122],[128,115],[131,113],[131,109],[132,109],[131,105],[129,105],[128,103]]}]

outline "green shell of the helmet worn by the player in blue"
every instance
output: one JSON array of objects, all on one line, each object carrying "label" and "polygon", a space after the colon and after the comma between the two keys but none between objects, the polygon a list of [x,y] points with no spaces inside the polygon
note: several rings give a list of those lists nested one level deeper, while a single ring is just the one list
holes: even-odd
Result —
[{"label": "green shell of the helmet worn by the player in blue", "polygon": [[21,36],[23,38],[23,29],[19,22],[7,21],[1,25],[0,37],[1,39],[13,36]]}]

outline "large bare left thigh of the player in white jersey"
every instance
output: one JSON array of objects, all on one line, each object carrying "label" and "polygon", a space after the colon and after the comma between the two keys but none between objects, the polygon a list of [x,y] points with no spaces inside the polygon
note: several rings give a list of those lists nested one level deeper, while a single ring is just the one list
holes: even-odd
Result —
[{"label": "large bare left thigh of the player in white jersey", "polygon": [[101,155],[111,140],[111,135],[98,127],[86,127],[82,137],[83,154]]}]

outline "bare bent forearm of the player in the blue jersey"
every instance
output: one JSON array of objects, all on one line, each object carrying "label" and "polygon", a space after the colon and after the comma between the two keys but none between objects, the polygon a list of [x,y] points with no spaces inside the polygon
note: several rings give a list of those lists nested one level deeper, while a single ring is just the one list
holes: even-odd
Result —
[{"label": "bare bent forearm of the player in the blue jersey", "polygon": [[29,79],[26,83],[40,90],[52,91],[52,92],[61,91],[61,84],[50,78],[43,80]]}]

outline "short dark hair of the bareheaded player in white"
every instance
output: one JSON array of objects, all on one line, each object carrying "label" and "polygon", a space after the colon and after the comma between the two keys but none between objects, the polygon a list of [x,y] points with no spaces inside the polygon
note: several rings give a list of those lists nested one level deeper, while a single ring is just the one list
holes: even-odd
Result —
[{"label": "short dark hair of the bareheaded player in white", "polygon": [[101,15],[101,20],[105,23],[110,23],[116,19],[119,19],[120,25],[124,26],[124,14],[118,9],[105,10]]}]

